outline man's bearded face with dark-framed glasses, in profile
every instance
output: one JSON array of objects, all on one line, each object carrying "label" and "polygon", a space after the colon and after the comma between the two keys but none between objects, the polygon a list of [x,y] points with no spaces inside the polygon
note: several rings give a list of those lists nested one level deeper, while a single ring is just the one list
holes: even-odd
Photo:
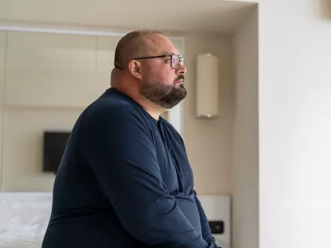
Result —
[{"label": "man's bearded face with dark-framed glasses, in profile", "polygon": [[[167,54],[179,55],[172,42],[162,35],[150,38],[154,49],[148,56]],[[186,69],[179,62],[176,69],[174,62],[178,57],[164,56],[161,58],[144,59],[142,63],[141,94],[153,103],[170,109],[183,100],[187,94],[184,83]]]}]

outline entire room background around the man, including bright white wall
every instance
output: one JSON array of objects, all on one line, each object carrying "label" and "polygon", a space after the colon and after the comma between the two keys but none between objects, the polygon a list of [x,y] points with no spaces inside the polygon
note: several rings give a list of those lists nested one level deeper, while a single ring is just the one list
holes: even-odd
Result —
[{"label": "entire room background around the man, including bright white wall", "polygon": [[0,247],[40,247],[45,140],[109,87],[119,38],[152,28],[185,56],[188,96],[163,116],[221,246],[330,248],[330,21],[329,0],[0,0]]}]

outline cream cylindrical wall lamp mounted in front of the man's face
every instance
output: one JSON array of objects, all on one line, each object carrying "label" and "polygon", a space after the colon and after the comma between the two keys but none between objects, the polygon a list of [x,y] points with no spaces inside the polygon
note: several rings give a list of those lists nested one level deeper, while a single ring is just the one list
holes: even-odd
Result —
[{"label": "cream cylindrical wall lamp mounted in front of the man's face", "polygon": [[210,53],[197,56],[197,118],[219,116],[219,58]]}]

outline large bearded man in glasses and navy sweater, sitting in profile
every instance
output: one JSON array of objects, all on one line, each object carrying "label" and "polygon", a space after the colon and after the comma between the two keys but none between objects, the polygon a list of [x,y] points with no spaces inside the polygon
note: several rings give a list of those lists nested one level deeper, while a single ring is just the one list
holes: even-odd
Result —
[{"label": "large bearded man in glasses and navy sweater, sitting in profile", "polygon": [[217,247],[183,140],[160,116],[186,96],[183,58],[140,30],[119,41],[114,67],[70,135],[42,248]]}]

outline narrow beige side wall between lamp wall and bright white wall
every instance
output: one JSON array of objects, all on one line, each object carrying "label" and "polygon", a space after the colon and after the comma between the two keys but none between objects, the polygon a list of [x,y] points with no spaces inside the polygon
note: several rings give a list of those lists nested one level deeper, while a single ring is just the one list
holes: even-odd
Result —
[{"label": "narrow beige side wall between lamp wall and bright white wall", "polygon": [[234,36],[234,136],[232,248],[259,245],[258,12],[243,19]]}]

